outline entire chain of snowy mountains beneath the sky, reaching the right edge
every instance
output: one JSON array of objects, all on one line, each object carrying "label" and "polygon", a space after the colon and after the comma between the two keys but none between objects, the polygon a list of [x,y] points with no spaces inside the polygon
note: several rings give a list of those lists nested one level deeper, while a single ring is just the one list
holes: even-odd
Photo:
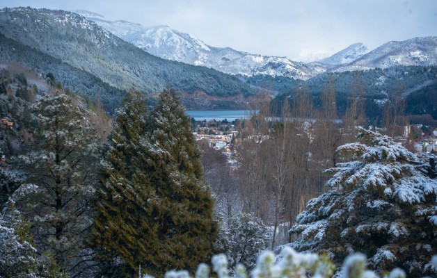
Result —
[{"label": "entire chain of snowy mountains beneath the sky, reaching the right edge", "polygon": [[[86,13],[83,14],[87,15]],[[326,71],[368,70],[376,67],[386,68],[397,65],[437,65],[437,58],[430,59],[430,63],[420,64],[411,62],[412,59],[402,59],[402,57],[392,57],[392,62],[390,62],[390,57],[386,57],[386,63],[381,65],[375,63],[372,59],[365,60],[365,58],[370,57],[369,55],[374,55],[374,60],[383,60],[384,56],[386,56],[386,53],[383,52],[384,49],[381,48],[383,46],[370,51],[365,44],[360,42],[351,44],[349,47],[319,61],[303,63],[292,61],[287,57],[249,54],[230,47],[212,47],[193,35],[177,31],[166,25],[144,27],[141,24],[126,21],[109,21],[100,17],[88,17],[88,19],[100,24],[100,26],[111,31],[114,35],[127,42],[131,42],[154,56],[168,60],[177,60],[190,65],[202,65],[228,74],[242,76],[285,76],[305,81]],[[405,55],[420,58],[421,53],[416,53],[418,45],[408,47],[408,43],[413,42],[413,40],[406,40],[403,44],[401,42],[400,46],[395,44],[393,47],[401,49],[397,50],[401,52],[402,48],[411,48],[413,49],[411,54]],[[437,46],[437,42],[435,44]],[[392,49],[392,52],[395,51],[395,49]],[[437,51],[434,51],[431,47],[427,51],[424,52],[424,56],[437,56]],[[393,62],[396,60],[399,63]]]}]

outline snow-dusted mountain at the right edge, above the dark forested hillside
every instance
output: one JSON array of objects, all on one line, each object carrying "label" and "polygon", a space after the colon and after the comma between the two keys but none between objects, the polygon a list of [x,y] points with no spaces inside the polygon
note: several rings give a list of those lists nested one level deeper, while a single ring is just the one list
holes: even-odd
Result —
[{"label": "snow-dusted mountain at the right edge, above the dark forested hillside", "polygon": [[337,70],[366,70],[399,65],[437,65],[437,37],[387,42]]}]

